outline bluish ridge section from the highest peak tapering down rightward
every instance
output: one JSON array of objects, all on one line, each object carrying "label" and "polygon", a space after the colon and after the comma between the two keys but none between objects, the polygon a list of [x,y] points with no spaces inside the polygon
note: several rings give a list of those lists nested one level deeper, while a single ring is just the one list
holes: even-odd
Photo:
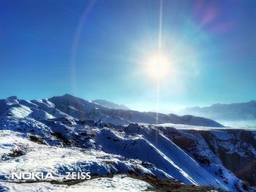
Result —
[{"label": "bluish ridge section from the highest peak tapering down rightward", "polygon": [[192,115],[178,116],[174,114],[157,114],[156,112],[110,109],[69,94],[56,96],[43,101],[53,104],[54,109],[58,110],[58,112],[64,112],[68,116],[80,120],[101,120],[102,122],[115,123],[119,125],[129,123],[178,123],[195,126],[222,127],[221,124],[214,120],[199,118]]}]

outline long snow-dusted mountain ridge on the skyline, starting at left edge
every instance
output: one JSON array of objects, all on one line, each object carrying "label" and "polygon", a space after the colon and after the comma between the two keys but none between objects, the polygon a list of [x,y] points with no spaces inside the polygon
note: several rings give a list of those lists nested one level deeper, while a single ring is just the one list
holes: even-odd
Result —
[{"label": "long snow-dusted mountain ridge on the skyline, starting at left edge", "polygon": [[[18,115],[32,115],[36,118],[59,118],[65,116],[78,120],[95,120],[117,125],[129,123],[176,123],[194,126],[223,127],[220,123],[207,118],[192,115],[178,116],[174,114],[165,115],[156,112],[138,112],[135,110],[116,110],[95,104],[94,102],[81,99],[70,94],[64,96],[53,96],[50,99],[23,100],[15,96],[0,100],[1,103],[10,103],[12,110]],[[4,108],[4,107],[1,107]],[[23,108],[21,110],[21,108]],[[21,110],[21,113],[20,113]],[[0,110],[0,115],[1,115]],[[8,113],[8,112],[7,112]],[[15,112],[14,112],[15,115]]]}]

